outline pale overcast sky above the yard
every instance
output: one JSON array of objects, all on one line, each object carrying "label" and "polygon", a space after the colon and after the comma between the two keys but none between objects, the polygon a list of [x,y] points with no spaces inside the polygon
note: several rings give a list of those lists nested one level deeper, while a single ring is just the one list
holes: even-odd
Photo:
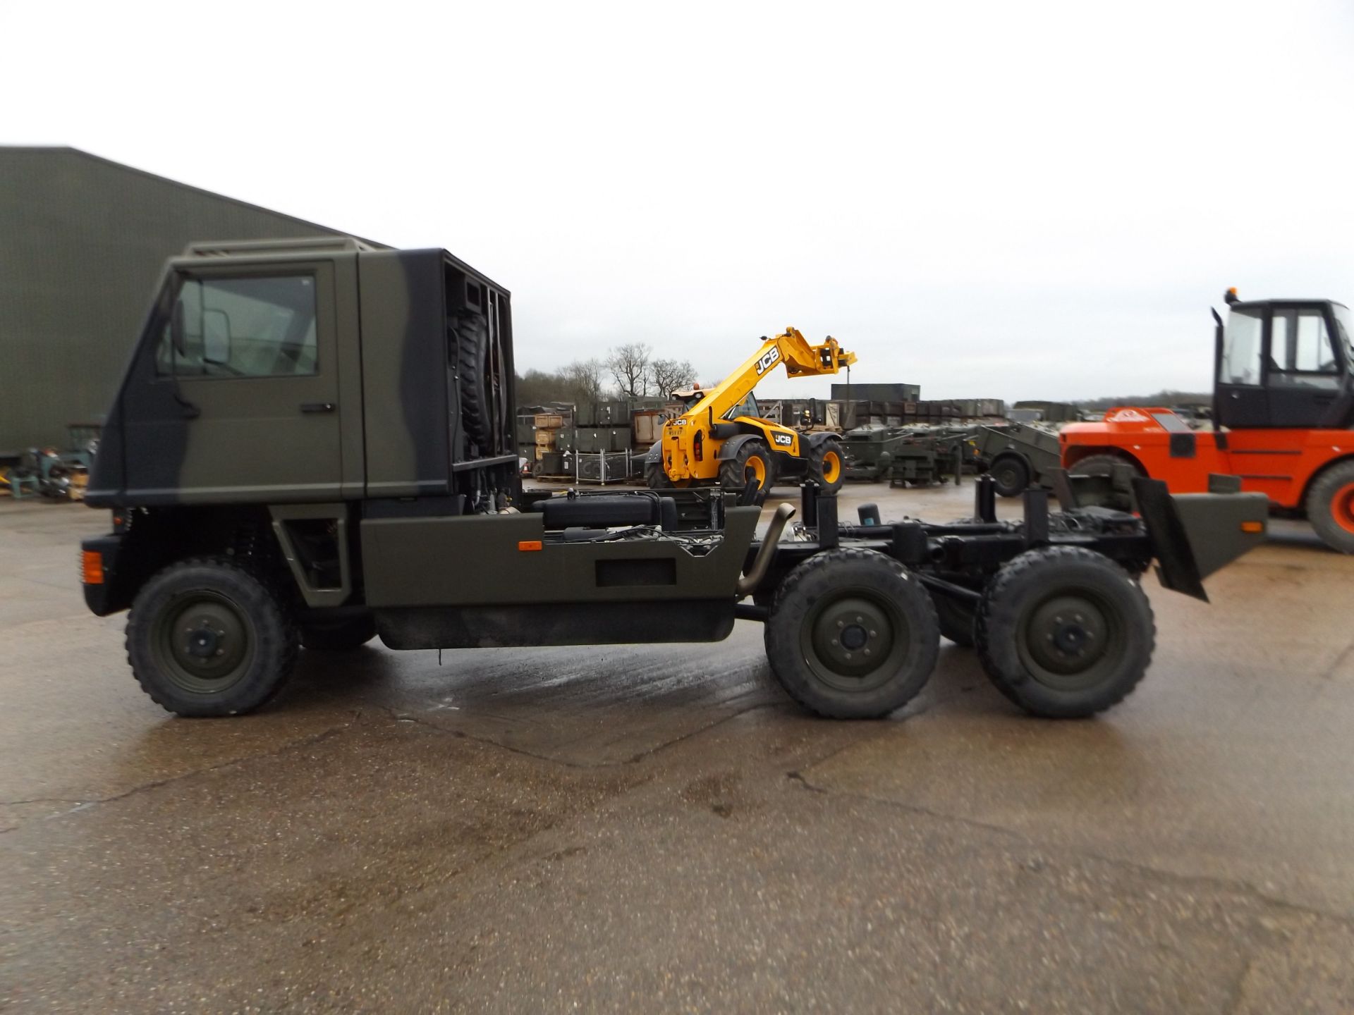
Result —
[{"label": "pale overcast sky above the yard", "polygon": [[1349,3],[0,0],[0,142],[445,246],[520,369],[712,380],[792,323],[926,398],[1145,394],[1209,386],[1227,286],[1354,299]]}]

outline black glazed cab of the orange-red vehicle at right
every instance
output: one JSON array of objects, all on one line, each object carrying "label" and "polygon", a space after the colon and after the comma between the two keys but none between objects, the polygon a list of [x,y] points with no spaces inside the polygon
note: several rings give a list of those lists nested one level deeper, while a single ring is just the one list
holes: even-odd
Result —
[{"label": "black glazed cab of the orange-red vehicle at right", "polygon": [[1217,317],[1213,418],[1229,429],[1343,429],[1354,421],[1349,307],[1236,299]]}]

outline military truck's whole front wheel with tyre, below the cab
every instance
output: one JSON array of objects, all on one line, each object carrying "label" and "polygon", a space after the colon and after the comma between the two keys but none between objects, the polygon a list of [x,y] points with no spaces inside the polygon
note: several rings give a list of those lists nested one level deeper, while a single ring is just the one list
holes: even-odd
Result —
[{"label": "military truck's whole front wheel with tyre, below the cab", "polygon": [[298,635],[282,597],[229,560],[171,564],[127,617],[127,662],[150,700],[180,716],[234,716],[291,675]]}]

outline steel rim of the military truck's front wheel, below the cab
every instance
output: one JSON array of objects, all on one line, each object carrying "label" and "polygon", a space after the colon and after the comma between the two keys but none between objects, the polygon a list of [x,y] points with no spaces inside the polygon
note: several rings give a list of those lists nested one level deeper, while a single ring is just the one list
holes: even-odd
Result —
[{"label": "steel rim of the military truck's front wheel, below the cab", "polygon": [[152,654],[156,666],[191,694],[229,690],[249,671],[255,632],[226,595],[196,590],[169,602],[156,617]]}]

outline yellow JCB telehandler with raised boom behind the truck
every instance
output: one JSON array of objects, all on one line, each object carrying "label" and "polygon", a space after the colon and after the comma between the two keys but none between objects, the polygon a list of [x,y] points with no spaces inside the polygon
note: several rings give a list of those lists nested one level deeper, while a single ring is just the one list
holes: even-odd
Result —
[{"label": "yellow JCB telehandler with raised boom behind the truck", "polygon": [[653,490],[718,483],[758,491],[777,479],[811,479],[835,493],[842,484],[842,445],[834,433],[799,433],[761,418],[753,388],[780,364],[792,378],[837,374],[856,361],[831,336],[810,345],[796,328],[762,344],[746,363],[712,388],[672,392],[686,411],[663,426],[663,436],[645,459],[645,482]]}]

